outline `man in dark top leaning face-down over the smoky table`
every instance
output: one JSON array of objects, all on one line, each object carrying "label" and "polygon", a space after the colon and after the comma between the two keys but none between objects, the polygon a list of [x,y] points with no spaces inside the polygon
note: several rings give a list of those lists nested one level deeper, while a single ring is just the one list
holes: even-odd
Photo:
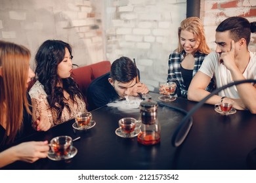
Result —
[{"label": "man in dark top leaning face-down over the smoky table", "polygon": [[126,95],[138,96],[138,93],[148,93],[145,84],[137,83],[137,67],[131,59],[121,57],[116,59],[106,73],[91,82],[87,90],[89,110],[107,105],[117,99],[124,99]]}]

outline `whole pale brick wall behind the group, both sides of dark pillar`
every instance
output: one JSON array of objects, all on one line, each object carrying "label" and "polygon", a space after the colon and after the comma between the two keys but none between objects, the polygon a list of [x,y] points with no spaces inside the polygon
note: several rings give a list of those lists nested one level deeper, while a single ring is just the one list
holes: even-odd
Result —
[{"label": "whole pale brick wall behind the group, both sides of dark pillar", "polygon": [[[211,50],[217,25],[238,15],[256,21],[255,6],[255,0],[201,0]],[[155,90],[167,78],[184,18],[186,0],[0,0],[0,39],[27,46],[32,57],[46,39],[61,39],[72,44],[78,65],[135,58],[142,82]],[[256,51],[255,33],[249,48]]]}]

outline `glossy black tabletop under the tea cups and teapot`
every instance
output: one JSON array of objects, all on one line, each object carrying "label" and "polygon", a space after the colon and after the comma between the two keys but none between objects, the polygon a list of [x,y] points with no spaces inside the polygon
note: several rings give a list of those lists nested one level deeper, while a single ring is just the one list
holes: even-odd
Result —
[{"label": "glossy black tabletop under the tea cups and teapot", "polygon": [[[159,101],[158,93],[150,93]],[[190,110],[195,102],[177,99],[165,103]],[[59,135],[73,139],[77,154],[65,161],[39,159],[35,163],[18,161],[4,169],[254,169],[256,148],[256,115],[238,110],[223,116],[212,105],[203,105],[193,114],[193,125],[183,144],[174,147],[171,139],[184,114],[169,107],[158,107],[161,124],[161,142],[144,146],[137,137],[124,139],[115,133],[118,120],[124,117],[139,119],[139,108],[120,110],[117,107],[101,107],[92,111],[95,127],[76,131],[74,120],[57,125],[47,132],[39,132],[24,141],[51,141]]]}]

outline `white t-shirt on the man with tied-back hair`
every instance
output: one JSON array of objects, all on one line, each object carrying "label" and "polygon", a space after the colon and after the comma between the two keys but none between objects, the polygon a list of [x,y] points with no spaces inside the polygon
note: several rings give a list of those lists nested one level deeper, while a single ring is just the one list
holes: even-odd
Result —
[{"label": "white t-shirt on the man with tied-back hair", "polygon": [[[250,60],[243,75],[246,79],[256,79],[256,52],[249,52],[249,54]],[[205,57],[199,71],[211,78],[215,75],[217,88],[233,82],[230,71],[223,64],[219,63],[219,54],[216,52],[211,52]],[[219,92],[219,95],[234,99],[240,98],[236,86],[222,90]]]}]

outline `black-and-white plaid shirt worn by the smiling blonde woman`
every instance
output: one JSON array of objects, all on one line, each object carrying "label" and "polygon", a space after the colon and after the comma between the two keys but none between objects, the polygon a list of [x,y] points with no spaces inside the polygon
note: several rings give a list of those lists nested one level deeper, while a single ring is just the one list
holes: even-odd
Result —
[{"label": "black-and-white plaid shirt worn by the smiling blonde woman", "polygon": [[[181,54],[179,54],[176,50],[170,54],[167,82],[175,81],[179,90],[177,93],[178,96],[187,98],[188,90],[185,89],[184,81],[181,74],[181,62],[183,61],[185,55],[186,52],[184,50],[181,52]],[[195,64],[192,77],[194,77],[194,75],[196,75],[196,73],[200,69],[205,56],[207,56],[207,54],[202,54],[200,52],[195,53]],[[211,82],[205,90],[207,90],[208,92],[212,92],[214,89],[215,82],[213,79],[211,79]]]}]

